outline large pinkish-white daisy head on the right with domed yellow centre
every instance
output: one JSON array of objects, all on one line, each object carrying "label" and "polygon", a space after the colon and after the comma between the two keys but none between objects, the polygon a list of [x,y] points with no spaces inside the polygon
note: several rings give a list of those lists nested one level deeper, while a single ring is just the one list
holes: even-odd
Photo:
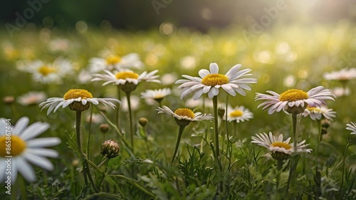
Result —
[{"label": "large pinkish-white daisy head on the right with domed yellow centre", "polygon": [[290,114],[300,114],[304,112],[307,105],[326,105],[325,100],[334,100],[335,98],[330,90],[324,90],[323,86],[313,88],[308,93],[297,89],[287,90],[281,95],[271,90],[268,90],[267,93],[271,95],[256,93],[255,100],[266,100],[266,102],[261,103],[258,107],[263,106],[263,110],[269,107],[268,114],[270,115],[273,112],[281,110],[286,110]]}]

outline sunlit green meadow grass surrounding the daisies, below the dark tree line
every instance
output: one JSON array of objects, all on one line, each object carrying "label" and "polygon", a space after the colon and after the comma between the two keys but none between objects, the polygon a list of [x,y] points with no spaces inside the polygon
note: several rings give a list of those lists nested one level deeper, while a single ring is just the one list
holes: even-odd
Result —
[{"label": "sunlit green meadow grass surrounding the daisies, below the dark tree line", "polygon": [[[78,172],[81,167],[78,164],[78,155],[66,144],[68,139],[65,131],[75,132],[75,112],[66,107],[66,109],[59,109],[56,113],[47,116],[46,110],[41,112],[38,105],[23,106],[17,103],[16,99],[32,90],[43,91],[48,98],[63,97],[64,93],[71,88],[89,90],[94,97],[98,98],[117,98],[115,86],[103,87],[101,82],[80,81],[83,78],[80,76],[80,71],[87,68],[88,60],[100,57],[100,52],[105,49],[120,53],[122,56],[128,53],[138,53],[142,62],[145,63],[142,70],[137,70],[140,73],[144,70],[158,69],[157,74],[160,75],[159,79],[162,80],[162,84],[142,83],[132,92],[132,95],[140,98],[140,93],[146,89],[171,88],[173,94],[164,98],[162,105],[167,105],[172,109],[189,107],[197,111],[212,113],[212,102],[206,95],[202,96],[204,97],[204,107],[193,107],[187,102],[189,98],[179,99],[182,91],[178,90],[178,85],[174,84],[176,80],[181,79],[181,75],[198,76],[198,71],[202,68],[209,68],[209,63],[218,63],[219,73],[226,73],[233,65],[241,63],[243,69],[250,68],[252,70],[252,77],[256,78],[258,83],[253,84],[252,90],[247,92],[245,97],[241,95],[229,96],[230,105],[244,105],[253,112],[253,119],[236,124],[237,134],[233,140],[236,142],[229,145],[233,149],[231,163],[237,161],[236,164],[231,165],[225,161],[226,165],[224,166],[226,168],[230,166],[229,170],[225,172],[217,172],[209,146],[204,147],[205,155],[202,159],[198,159],[197,149],[194,149],[195,144],[201,143],[201,137],[197,137],[197,135],[201,133],[204,135],[204,132],[207,132],[210,135],[209,138],[213,137],[213,122],[191,123],[184,130],[180,146],[182,164],[179,168],[171,165],[169,161],[177,140],[178,126],[172,117],[157,114],[155,111],[157,103],[147,105],[145,100],[141,99],[133,112],[135,130],[140,127],[137,123],[138,119],[146,117],[148,120],[146,126],[147,135],[149,135],[148,141],[137,134],[135,136],[135,157],[137,159],[130,157],[125,150],[122,150],[119,157],[110,160],[107,174],[119,174],[128,178],[112,177],[117,186],[109,179],[105,179],[101,187],[101,198],[109,198],[109,194],[116,195],[112,197],[114,199],[179,199],[182,196],[187,196],[187,199],[254,199],[261,196],[263,196],[262,199],[281,198],[285,192],[288,170],[281,174],[277,173],[276,167],[273,167],[276,162],[273,159],[261,157],[266,149],[255,144],[252,145],[251,136],[260,132],[273,132],[275,135],[282,133],[285,137],[291,137],[291,117],[283,112],[268,115],[266,111],[257,108],[261,102],[254,101],[255,95],[256,93],[266,93],[266,90],[283,93],[290,88],[308,91],[319,85],[327,89],[341,87],[341,83],[337,81],[325,80],[323,74],[342,68],[355,67],[356,26],[349,21],[339,21],[323,26],[311,24],[276,26],[261,34],[254,34],[246,30],[241,27],[231,27],[226,30],[199,33],[189,31],[187,28],[178,28],[167,36],[159,31],[103,32],[89,28],[85,33],[78,33],[46,28],[40,31],[31,31],[23,28],[11,39],[6,32],[2,32],[0,34],[1,98],[13,96],[15,102],[12,104],[0,102],[1,117],[11,118],[13,124],[22,116],[29,117],[31,123],[48,122],[51,128],[43,136],[60,137],[62,140],[61,144],[53,147],[61,154],[59,159],[51,159],[56,169],[53,172],[43,172],[38,168],[37,174],[40,181],[33,184],[26,183],[28,199],[74,199],[80,195],[95,194],[88,188],[82,191],[83,177]],[[62,41],[59,44],[56,43],[53,49],[51,43],[58,39]],[[63,46],[61,49],[56,49],[61,45]],[[70,60],[74,66],[73,73],[63,78],[63,83],[59,85],[38,83],[33,80],[30,73],[24,73],[16,68],[28,60],[43,60],[51,63],[58,57]],[[356,121],[356,89],[354,85],[355,80],[350,80],[347,83],[350,95],[338,97],[335,102],[328,101],[328,107],[335,110],[337,114],[333,122],[330,123],[328,134],[323,136],[325,145],[320,146],[319,159],[323,166],[321,169],[321,180],[323,181],[321,196],[324,199],[338,198],[342,172],[341,161],[347,137],[350,137],[354,143],[356,142],[355,135],[350,135],[350,131],[345,130],[347,123]],[[125,95],[122,94],[123,98]],[[219,102],[226,102],[226,93],[222,90]],[[114,139],[120,144],[121,142],[112,127],[105,135],[100,132],[99,126],[101,123],[107,123],[105,120],[98,123],[93,122],[89,130],[86,118],[90,116],[92,108],[93,113],[98,114],[98,108],[102,109],[103,106],[91,105],[89,110],[83,112],[82,130],[83,141],[85,141],[83,144],[86,148],[88,132],[91,132],[88,145],[90,159],[98,164],[103,161],[99,152],[105,139]],[[115,110],[105,110],[105,115],[115,121]],[[128,141],[130,135],[128,112],[122,111],[121,115],[120,123]],[[221,127],[224,130],[224,124]],[[229,135],[234,135],[232,122],[229,123],[229,130]],[[315,149],[318,123],[310,120],[309,117],[300,117],[298,132],[300,132],[300,138],[306,140],[311,149]],[[192,137],[192,135],[196,137]],[[186,144],[184,145],[184,143]],[[194,151],[195,156],[192,155]],[[345,173],[348,174],[345,176],[347,181],[343,184],[343,191],[345,191],[345,196],[349,195],[345,198],[350,199],[355,198],[356,195],[355,151],[355,145],[352,145],[345,157]],[[154,164],[142,162],[143,159],[150,159]],[[193,163],[192,160],[201,162]],[[298,166],[298,184],[300,184],[292,188],[293,198],[313,198],[314,162],[315,151],[300,157],[300,166]],[[132,166],[135,168],[135,176],[130,174]],[[101,175],[97,171],[93,174],[95,177]],[[279,181],[279,184],[276,185],[276,180],[280,179],[279,175],[284,181]],[[226,187],[220,185],[221,181]],[[137,184],[155,194],[155,197],[145,193]],[[224,187],[224,190],[221,190],[221,196],[215,195],[216,185]],[[179,192],[177,188],[183,191]],[[347,191],[349,191],[348,194]],[[39,194],[47,197],[41,197]],[[100,195],[98,194],[98,196]],[[92,196],[92,198],[95,197]]]}]

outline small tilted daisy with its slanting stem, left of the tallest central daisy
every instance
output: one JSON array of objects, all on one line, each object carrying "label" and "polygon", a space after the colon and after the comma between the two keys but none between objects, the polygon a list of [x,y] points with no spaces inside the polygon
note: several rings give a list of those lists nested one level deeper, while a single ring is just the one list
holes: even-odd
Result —
[{"label": "small tilted daisy with its slanting stem, left of the tallest central daisy", "polygon": [[163,107],[157,107],[156,109],[158,113],[165,113],[167,115],[170,115],[174,117],[174,120],[177,122],[177,125],[179,125],[179,133],[178,133],[178,138],[177,138],[177,143],[176,147],[174,149],[173,157],[172,157],[172,163],[174,162],[174,159],[176,157],[178,147],[179,147],[179,142],[183,134],[184,127],[187,127],[190,122],[197,122],[201,120],[212,120],[214,117],[211,115],[207,114],[202,114],[201,112],[193,112],[193,110],[190,110],[189,108],[178,108],[174,112],[169,109],[167,106]]}]

